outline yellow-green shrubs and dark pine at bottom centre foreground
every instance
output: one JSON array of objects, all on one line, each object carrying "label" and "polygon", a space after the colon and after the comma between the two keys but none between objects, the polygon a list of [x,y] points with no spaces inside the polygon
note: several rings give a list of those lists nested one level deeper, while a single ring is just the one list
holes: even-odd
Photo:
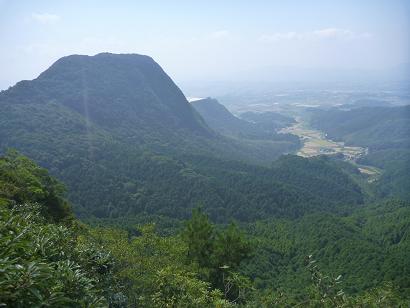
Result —
[{"label": "yellow-green shrubs and dark pine at bottom centre foreground", "polygon": [[[118,229],[97,228],[91,234],[119,262],[118,276],[135,306],[222,307],[244,302],[251,283],[235,270],[247,257],[249,243],[234,226],[218,232],[214,228],[206,216],[194,212],[181,236],[161,237],[153,224],[139,228],[139,235],[131,238]],[[225,264],[231,267],[224,272]]]}]

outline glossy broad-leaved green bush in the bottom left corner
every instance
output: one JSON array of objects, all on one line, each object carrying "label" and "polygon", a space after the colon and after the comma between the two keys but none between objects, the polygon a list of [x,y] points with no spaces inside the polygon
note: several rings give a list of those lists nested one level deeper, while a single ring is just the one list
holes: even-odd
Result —
[{"label": "glossy broad-leaved green bush in the bottom left corner", "polygon": [[40,213],[37,204],[0,207],[0,304],[106,306],[115,293],[112,258]]}]

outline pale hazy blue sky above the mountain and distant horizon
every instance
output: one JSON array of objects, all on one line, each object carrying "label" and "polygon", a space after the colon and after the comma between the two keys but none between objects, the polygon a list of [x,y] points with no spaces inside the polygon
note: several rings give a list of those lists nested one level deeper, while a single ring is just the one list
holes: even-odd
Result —
[{"label": "pale hazy blue sky above the mountain and distant horizon", "polygon": [[410,1],[0,0],[0,89],[58,58],[152,56],[176,81],[266,66],[380,69],[409,62]]}]

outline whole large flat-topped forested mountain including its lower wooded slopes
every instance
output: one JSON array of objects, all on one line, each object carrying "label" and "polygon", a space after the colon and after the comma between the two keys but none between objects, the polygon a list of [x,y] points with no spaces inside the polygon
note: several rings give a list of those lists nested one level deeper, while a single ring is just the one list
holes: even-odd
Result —
[{"label": "whole large flat-topped forested mountain including its lower wooded slopes", "polygon": [[330,161],[233,162],[284,149],[212,131],[149,57],[62,58],[3,91],[0,106],[1,149],[49,168],[83,218],[186,218],[201,203],[217,221],[251,220],[363,201]]}]

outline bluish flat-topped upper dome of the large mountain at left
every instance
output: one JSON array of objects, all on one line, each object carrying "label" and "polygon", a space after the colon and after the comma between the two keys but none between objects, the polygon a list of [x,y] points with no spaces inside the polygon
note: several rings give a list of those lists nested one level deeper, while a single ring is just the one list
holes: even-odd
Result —
[{"label": "bluish flat-topped upper dome of the large mountain at left", "polygon": [[149,56],[100,53],[57,60],[38,78],[4,91],[0,100],[55,102],[102,127],[129,134],[180,129],[209,134],[172,79]]}]

